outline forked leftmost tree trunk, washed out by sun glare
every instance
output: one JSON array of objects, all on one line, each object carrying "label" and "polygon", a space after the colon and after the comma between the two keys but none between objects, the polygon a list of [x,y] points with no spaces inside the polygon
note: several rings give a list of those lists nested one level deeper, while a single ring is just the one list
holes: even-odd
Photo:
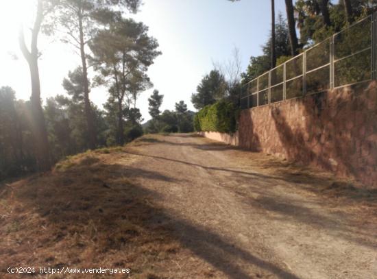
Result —
[{"label": "forked leftmost tree trunk, washed out by sun glare", "polygon": [[31,124],[36,147],[38,170],[49,171],[49,169],[51,169],[51,158],[45,116],[43,114],[42,105],[40,104],[40,77],[38,69],[38,34],[40,32],[42,20],[42,0],[38,0],[36,21],[34,22],[34,27],[32,29],[31,50],[29,51],[26,47],[22,28],[20,30],[19,44],[23,56],[29,64],[30,78],[32,81],[32,96],[30,97],[32,112]]}]

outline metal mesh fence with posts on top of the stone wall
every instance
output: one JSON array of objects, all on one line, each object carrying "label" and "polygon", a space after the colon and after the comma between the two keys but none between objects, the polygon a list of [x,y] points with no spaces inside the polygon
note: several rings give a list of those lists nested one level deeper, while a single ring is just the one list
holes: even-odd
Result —
[{"label": "metal mesh fence with posts on top of the stone wall", "polygon": [[376,79],[372,14],[247,83],[241,108],[254,108]]}]

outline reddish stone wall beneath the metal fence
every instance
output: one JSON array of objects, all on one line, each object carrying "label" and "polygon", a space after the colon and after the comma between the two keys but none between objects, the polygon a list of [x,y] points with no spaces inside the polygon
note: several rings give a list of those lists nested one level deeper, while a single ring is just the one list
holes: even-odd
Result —
[{"label": "reddish stone wall beneath the metal fence", "polygon": [[239,145],[377,187],[377,84],[243,110]]}]

